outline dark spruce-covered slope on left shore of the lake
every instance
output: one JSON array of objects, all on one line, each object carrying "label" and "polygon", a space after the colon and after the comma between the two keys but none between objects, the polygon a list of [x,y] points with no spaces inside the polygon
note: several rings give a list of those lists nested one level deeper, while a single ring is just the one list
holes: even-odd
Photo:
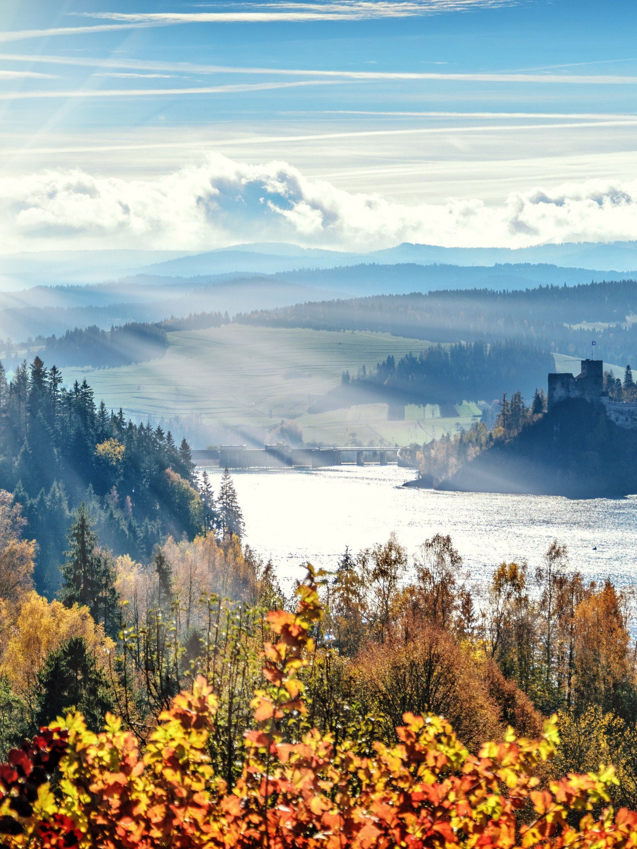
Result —
[{"label": "dark spruce-covered slope on left shore of the lake", "polygon": [[7,382],[0,365],[0,489],[14,492],[39,546],[41,592],[59,582],[70,512],[86,501],[99,539],[116,554],[147,560],[166,534],[192,538],[202,525],[188,443],[96,406],[93,391],[69,390],[39,357]]}]

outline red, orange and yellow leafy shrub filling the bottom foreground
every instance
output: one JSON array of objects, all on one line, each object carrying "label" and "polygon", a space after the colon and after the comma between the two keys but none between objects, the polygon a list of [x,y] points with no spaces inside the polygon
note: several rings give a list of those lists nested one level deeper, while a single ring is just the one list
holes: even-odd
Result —
[{"label": "red, orange and yellow leafy shrub filling the bottom foreground", "polygon": [[434,716],[405,714],[397,745],[375,742],[369,751],[352,739],[335,745],[315,728],[296,734],[306,712],[297,672],[312,656],[311,633],[323,615],[317,590],[310,573],[296,613],[268,615],[279,639],[266,644],[264,683],[251,704],[254,723],[234,787],[211,767],[217,699],[196,678],[161,714],[144,752],[116,717],[93,734],[79,714],[12,750],[0,767],[3,846],[637,844],[637,814],[602,807],[617,783],[612,767],[540,784],[541,762],[559,742],[554,720],[541,739],[516,739],[510,730],[477,756]]}]

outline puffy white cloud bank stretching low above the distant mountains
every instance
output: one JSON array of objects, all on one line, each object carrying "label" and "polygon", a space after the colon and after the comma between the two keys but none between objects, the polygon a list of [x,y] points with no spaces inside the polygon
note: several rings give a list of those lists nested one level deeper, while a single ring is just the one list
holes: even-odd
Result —
[{"label": "puffy white cloud bank stretching low above the distant mountains", "polygon": [[373,250],[403,241],[526,247],[637,234],[637,180],[564,183],[504,203],[406,205],[304,177],[283,161],[247,165],[211,155],[155,180],[42,171],[0,178],[3,250],[210,250],[287,241]]}]

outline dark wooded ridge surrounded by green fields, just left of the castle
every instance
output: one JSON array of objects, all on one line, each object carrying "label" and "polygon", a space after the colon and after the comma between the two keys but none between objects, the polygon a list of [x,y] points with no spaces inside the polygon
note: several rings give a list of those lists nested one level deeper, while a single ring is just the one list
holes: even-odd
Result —
[{"label": "dark wooded ridge surrounded by green fields, just left of the castle", "polygon": [[531,397],[554,368],[549,353],[518,342],[484,342],[435,346],[407,354],[396,362],[389,356],[375,369],[343,374],[341,385],[313,402],[310,412],[357,403],[444,404],[467,400],[491,402],[519,386]]}]

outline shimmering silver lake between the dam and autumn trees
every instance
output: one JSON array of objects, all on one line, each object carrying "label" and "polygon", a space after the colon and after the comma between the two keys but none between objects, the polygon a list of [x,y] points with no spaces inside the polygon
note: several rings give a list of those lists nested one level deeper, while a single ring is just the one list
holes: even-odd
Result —
[{"label": "shimmering silver lake between the dam and autumn trees", "polygon": [[[217,489],[221,470],[208,472]],[[308,560],[332,570],[346,546],[357,552],[392,531],[410,555],[428,537],[450,534],[472,582],[488,580],[503,560],[538,565],[553,539],[567,543],[572,566],[589,580],[610,576],[623,586],[637,576],[637,497],[570,501],[401,486],[414,476],[397,466],[232,472],[245,542],[273,559],[284,583]]]}]

